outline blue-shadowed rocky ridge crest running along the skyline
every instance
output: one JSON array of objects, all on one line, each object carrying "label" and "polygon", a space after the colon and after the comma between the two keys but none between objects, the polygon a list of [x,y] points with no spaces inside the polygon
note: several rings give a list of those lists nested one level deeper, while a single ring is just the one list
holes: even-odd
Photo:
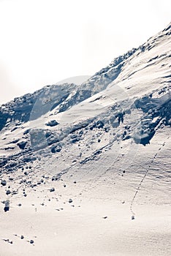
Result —
[{"label": "blue-shadowed rocky ridge crest running along the skyline", "polygon": [[[166,48],[166,53],[160,53],[159,56],[149,55],[149,59],[145,60],[145,67],[142,67],[140,63],[140,69],[137,69],[138,64],[134,65],[134,71],[129,72],[134,59],[137,56],[143,55],[143,53],[148,53],[152,48],[156,48],[164,41],[165,37],[170,38],[170,25],[166,29],[161,31],[155,37],[148,39],[148,42],[141,45],[139,48],[133,48],[129,50],[128,53],[123,54],[123,56],[118,56],[115,58],[109,66],[101,69],[99,72],[96,72],[86,83],[83,83],[81,86],[76,86],[75,84],[63,84],[63,85],[53,85],[45,86],[43,89],[40,89],[34,94],[26,94],[23,97],[15,98],[7,104],[1,105],[0,107],[0,129],[10,121],[21,121],[26,122],[30,118],[31,111],[34,108],[35,103],[39,112],[32,113],[31,118],[38,118],[47,111],[57,108],[58,112],[67,110],[88,97],[98,93],[107,88],[107,86],[112,83],[116,78],[118,80],[130,79],[130,77],[135,73],[144,69],[150,65],[156,64],[156,62],[162,62],[164,59],[170,58],[169,45]],[[129,64],[131,66],[129,66]],[[163,64],[164,67],[165,64]],[[127,74],[128,70],[129,74]],[[124,72],[123,72],[124,71]],[[166,75],[164,78],[167,78],[167,83],[169,83],[170,74]],[[116,80],[116,82],[118,82]],[[40,105],[40,107],[39,107]]]}]

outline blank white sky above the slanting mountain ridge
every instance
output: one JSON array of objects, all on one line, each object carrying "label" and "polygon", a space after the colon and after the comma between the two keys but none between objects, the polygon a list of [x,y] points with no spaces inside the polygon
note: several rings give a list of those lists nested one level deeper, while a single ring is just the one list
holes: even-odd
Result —
[{"label": "blank white sky above the slanting mountain ridge", "polygon": [[0,0],[0,104],[94,75],[170,18],[170,0]]}]

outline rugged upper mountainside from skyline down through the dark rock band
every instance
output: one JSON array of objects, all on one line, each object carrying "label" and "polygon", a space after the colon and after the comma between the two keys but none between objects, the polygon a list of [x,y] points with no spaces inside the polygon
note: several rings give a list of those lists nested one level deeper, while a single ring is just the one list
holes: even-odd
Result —
[{"label": "rugged upper mountainside from skyline down through the dark rock band", "polygon": [[81,86],[45,86],[1,105],[1,171],[39,154],[70,154],[75,145],[85,162],[117,141],[150,143],[159,127],[170,127],[170,44],[167,26]]}]

